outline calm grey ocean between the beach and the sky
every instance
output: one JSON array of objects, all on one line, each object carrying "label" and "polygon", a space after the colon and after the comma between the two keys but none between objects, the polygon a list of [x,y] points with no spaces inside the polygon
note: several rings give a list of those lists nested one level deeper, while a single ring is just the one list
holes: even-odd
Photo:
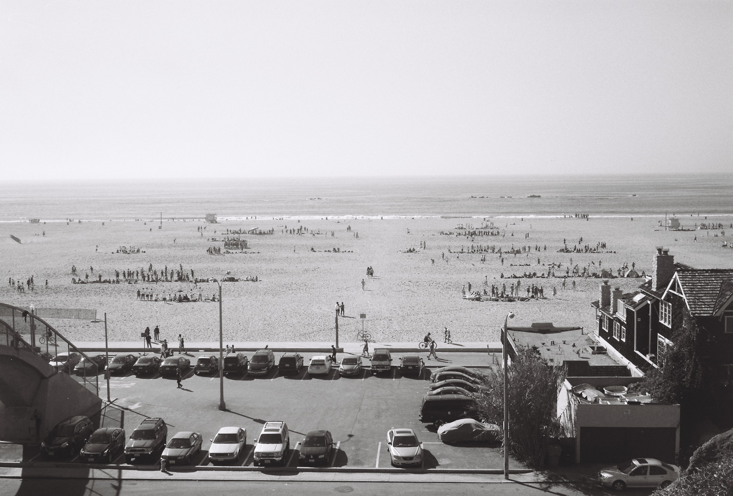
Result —
[{"label": "calm grey ocean between the beach and the sky", "polygon": [[[733,214],[733,174],[0,183],[0,221]],[[531,195],[539,197],[529,197]]]}]

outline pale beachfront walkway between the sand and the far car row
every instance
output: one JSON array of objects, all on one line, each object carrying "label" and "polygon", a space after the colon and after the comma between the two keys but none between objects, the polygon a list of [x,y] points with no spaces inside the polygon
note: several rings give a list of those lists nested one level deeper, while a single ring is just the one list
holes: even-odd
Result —
[{"label": "pale beachfront walkway between the sand and the far car row", "polygon": [[[185,337],[185,336],[184,336]],[[167,338],[166,338],[167,339]],[[78,349],[82,352],[103,352],[104,341],[79,341],[74,343]],[[300,352],[300,353],[331,353],[331,345],[333,342],[323,341],[225,341],[226,345],[234,345],[237,352],[256,352],[258,349],[262,349],[267,346],[272,349],[273,352]],[[153,343],[152,348],[145,348],[143,341],[110,341],[108,344],[109,352],[145,352],[152,351],[160,353],[160,344]],[[351,353],[353,355],[361,355],[361,349],[364,347],[364,343],[346,343],[339,342],[339,347],[336,350],[339,353]],[[178,341],[177,338],[171,338],[168,341],[168,348],[177,350]],[[410,343],[369,343],[369,352],[374,352],[375,349],[385,348],[391,353],[425,353],[428,350],[418,347],[415,342]],[[218,341],[197,341],[189,342],[185,341],[185,349],[188,352],[218,352],[219,344]],[[499,342],[468,342],[468,343],[438,343],[436,348],[438,354],[440,353],[501,353],[501,343]]]}]

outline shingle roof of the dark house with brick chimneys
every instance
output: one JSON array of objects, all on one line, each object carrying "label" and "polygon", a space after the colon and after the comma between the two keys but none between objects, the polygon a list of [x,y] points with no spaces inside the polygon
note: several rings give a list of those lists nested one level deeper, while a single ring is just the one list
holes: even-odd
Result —
[{"label": "shingle roof of the dark house with brick chimneys", "polygon": [[677,270],[677,278],[697,317],[712,316],[733,295],[733,269]]}]

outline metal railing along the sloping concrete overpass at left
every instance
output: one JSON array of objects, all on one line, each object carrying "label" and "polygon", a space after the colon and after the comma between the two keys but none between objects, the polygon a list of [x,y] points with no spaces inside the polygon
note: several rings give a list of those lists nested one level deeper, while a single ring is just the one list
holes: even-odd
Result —
[{"label": "metal railing along the sloping concrete overpass at left", "polygon": [[[99,374],[105,373],[109,358],[106,356],[104,363],[97,366],[94,360],[75,347],[52,325],[35,315],[33,308],[0,303],[0,344],[34,353],[46,362],[51,362],[59,353],[66,353],[69,358],[65,365],[56,366],[56,371],[67,372],[70,377],[78,378],[81,385],[99,396]],[[78,353],[80,360],[71,358],[71,353]],[[82,360],[85,366],[80,373],[74,375],[74,366]],[[86,371],[88,367],[89,374]]]}]

